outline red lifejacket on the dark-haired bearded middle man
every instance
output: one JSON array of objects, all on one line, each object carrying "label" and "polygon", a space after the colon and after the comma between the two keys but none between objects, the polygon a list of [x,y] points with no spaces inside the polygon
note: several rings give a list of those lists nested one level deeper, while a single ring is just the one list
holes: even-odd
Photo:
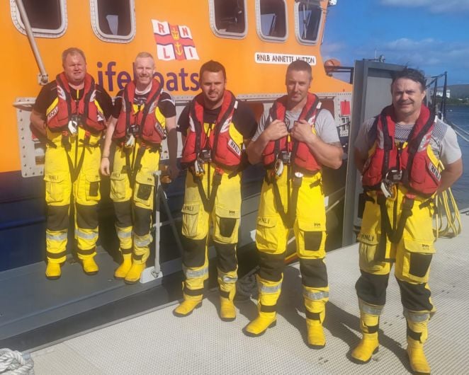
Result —
[{"label": "red lifejacket on the dark-haired bearded middle man", "polygon": [[189,108],[190,127],[182,151],[183,166],[191,166],[203,149],[210,149],[212,161],[217,166],[230,170],[239,166],[242,156],[241,145],[230,137],[229,131],[230,127],[235,126],[232,118],[237,104],[235,96],[225,90],[215,127],[207,137],[203,127],[203,94],[200,93],[193,98]]}]

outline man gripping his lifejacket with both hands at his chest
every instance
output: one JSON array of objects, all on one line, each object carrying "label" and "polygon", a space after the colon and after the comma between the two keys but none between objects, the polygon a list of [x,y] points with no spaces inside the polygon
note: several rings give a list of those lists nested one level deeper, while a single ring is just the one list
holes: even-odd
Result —
[{"label": "man gripping his lifejacket with both hands at his chest", "polygon": [[311,82],[309,64],[298,60],[288,65],[287,95],[264,113],[247,148],[250,163],[264,163],[266,178],[256,228],[259,316],[244,333],[259,336],[276,324],[288,232],[293,228],[303,277],[307,340],[310,347],[322,348],[329,287],[321,170],[341,166],[342,148],[334,118],[320,109],[319,99],[309,92]]}]

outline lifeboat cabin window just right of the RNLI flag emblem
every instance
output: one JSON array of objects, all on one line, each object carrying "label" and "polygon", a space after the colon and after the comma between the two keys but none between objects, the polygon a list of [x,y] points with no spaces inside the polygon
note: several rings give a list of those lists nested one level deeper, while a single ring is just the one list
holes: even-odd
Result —
[{"label": "lifeboat cabin window just right of the RNLI flag emblem", "polygon": [[219,37],[242,39],[247,34],[246,0],[210,0],[210,26]]}]

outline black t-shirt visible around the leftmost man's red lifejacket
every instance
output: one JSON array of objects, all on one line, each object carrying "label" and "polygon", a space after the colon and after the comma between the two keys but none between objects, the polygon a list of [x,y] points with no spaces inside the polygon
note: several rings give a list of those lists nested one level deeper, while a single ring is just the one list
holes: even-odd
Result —
[{"label": "black t-shirt visible around the leftmost man's red lifejacket", "polygon": [[[96,84],[95,88],[96,100],[98,101],[99,105],[101,106],[101,109],[103,110],[104,117],[108,119],[109,116],[113,114],[113,100],[102,86]],[[81,88],[81,90],[77,90],[75,88],[70,87],[70,96],[72,96],[72,99],[79,100],[83,95],[84,88]],[[55,98],[57,98],[57,83],[56,81],[52,81],[50,83],[47,83],[47,85],[45,85],[41,89],[38,98],[36,98],[36,101],[33,105],[33,110],[35,110],[35,112],[37,113],[40,113],[45,118],[47,108],[50,107]]]}]

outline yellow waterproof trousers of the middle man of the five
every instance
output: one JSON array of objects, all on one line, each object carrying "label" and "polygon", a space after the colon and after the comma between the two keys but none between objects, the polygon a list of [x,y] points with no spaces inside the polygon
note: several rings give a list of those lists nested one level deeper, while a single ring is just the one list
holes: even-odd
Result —
[{"label": "yellow waterproof trousers of the middle man of the five", "polygon": [[[200,178],[204,194],[213,192],[215,165],[206,166]],[[220,170],[218,170],[220,171]],[[213,210],[206,212],[200,188],[191,172],[186,176],[186,191],[182,208],[183,285],[185,299],[200,299],[203,284],[208,279],[207,243],[210,224],[213,226],[213,243],[217,251],[217,279],[220,295],[232,300],[236,293],[239,219],[241,217],[241,175],[229,178],[221,172],[220,185],[216,190]],[[210,187],[210,188],[209,188]]]}]

